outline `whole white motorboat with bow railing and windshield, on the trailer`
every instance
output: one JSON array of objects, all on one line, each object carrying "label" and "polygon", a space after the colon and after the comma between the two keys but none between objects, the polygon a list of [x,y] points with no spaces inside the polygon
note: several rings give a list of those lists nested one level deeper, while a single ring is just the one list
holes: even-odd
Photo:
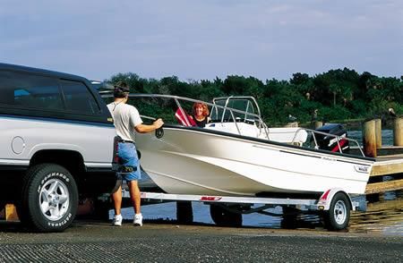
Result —
[{"label": "whole white motorboat with bow railing and windshield, on the trailer", "polygon": [[[199,101],[131,95],[140,113],[144,112],[141,105],[146,98],[172,99],[182,113],[190,109],[184,106],[186,103]],[[243,101],[243,110],[236,101]],[[349,194],[364,193],[374,159],[364,154],[349,155],[340,143],[348,140],[358,145],[356,140],[301,128],[268,128],[253,98],[219,98],[206,104],[210,106],[212,122],[205,128],[168,123],[165,118],[163,132],[136,135],[141,166],[163,191],[267,196],[322,194],[339,188]],[[142,117],[145,120],[157,116]],[[331,137],[338,151],[322,149],[318,141],[321,136]]]}]

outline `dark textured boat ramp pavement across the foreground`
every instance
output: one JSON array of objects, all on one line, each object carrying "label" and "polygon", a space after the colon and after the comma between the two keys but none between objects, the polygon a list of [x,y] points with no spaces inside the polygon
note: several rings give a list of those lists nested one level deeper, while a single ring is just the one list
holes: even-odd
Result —
[{"label": "dark textured boat ramp pavement across the foreground", "polygon": [[368,233],[76,221],[64,233],[0,222],[0,262],[401,262],[403,239]]}]

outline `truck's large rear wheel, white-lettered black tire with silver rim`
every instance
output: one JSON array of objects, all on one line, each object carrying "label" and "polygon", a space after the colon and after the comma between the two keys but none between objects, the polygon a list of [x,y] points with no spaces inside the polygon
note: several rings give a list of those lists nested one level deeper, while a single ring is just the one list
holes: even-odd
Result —
[{"label": "truck's large rear wheel, white-lettered black tire with silver rim", "polygon": [[24,178],[21,199],[24,223],[41,232],[61,232],[77,212],[77,185],[61,165],[35,165]]}]

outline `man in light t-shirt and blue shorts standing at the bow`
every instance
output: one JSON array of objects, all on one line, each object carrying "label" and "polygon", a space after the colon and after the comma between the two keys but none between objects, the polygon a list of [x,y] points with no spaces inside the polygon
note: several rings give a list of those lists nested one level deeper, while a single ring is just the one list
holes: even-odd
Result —
[{"label": "man in light t-shirt and blue shorts standing at the bow", "polygon": [[[124,173],[122,180],[129,186],[130,198],[134,208],[133,225],[142,225],[141,216],[141,196],[137,181],[141,179],[140,163],[137,157],[137,150],[134,144],[135,131],[146,133],[159,129],[164,123],[158,119],[151,125],[143,124],[139,111],[131,105],[126,104],[129,98],[129,87],[123,81],[119,81],[114,89],[114,102],[107,105],[115,123],[116,133],[121,138],[118,143],[117,155],[122,165]],[[122,186],[119,186],[112,194],[114,201],[115,216],[113,225],[122,225]]]}]

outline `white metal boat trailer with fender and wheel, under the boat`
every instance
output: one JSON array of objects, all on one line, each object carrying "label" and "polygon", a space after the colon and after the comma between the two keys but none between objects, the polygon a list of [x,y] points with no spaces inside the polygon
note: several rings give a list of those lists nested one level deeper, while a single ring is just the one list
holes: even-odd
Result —
[{"label": "white metal boat trailer with fender and wheel, under the boat", "polygon": [[[123,190],[123,198],[129,198],[129,192]],[[330,231],[340,231],[347,228],[350,211],[365,211],[364,199],[352,199],[346,191],[335,188],[324,191],[319,198],[301,198],[292,194],[286,198],[268,197],[243,197],[243,196],[214,196],[214,195],[193,195],[193,194],[172,194],[161,192],[141,192],[143,204],[156,204],[162,202],[176,201],[177,204],[190,204],[191,201],[202,202],[210,205],[210,216],[216,225],[242,226],[242,215],[260,213],[268,216],[283,216],[281,226],[293,228],[296,217],[299,214],[318,215],[322,217],[324,227]],[[254,207],[258,205],[259,207]],[[192,206],[190,205],[190,216]],[[193,222],[189,216],[189,207],[182,206],[187,213],[177,213],[179,222]],[[265,211],[268,208],[281,207],[283,213],[270,213]],[[180,208],[180,206],[177,206]],[[182,215],[182,218],[179,216]]]}]

